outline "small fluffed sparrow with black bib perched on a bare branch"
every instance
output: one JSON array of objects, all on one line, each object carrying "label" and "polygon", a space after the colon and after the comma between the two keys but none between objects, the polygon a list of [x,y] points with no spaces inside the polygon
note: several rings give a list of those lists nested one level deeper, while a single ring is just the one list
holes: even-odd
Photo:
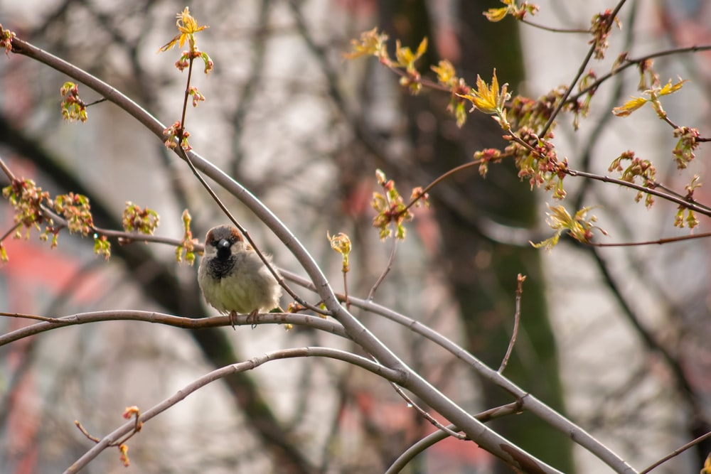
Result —
[{"label": "small fluffed sparrow with black bib perched on a bare branch", "polygon": [[[267,257],[269,263],[271,258]],[[233,321],[237,313],[254,320],[257,313],[279,307],[282,289],[242,234],[218,225],[205,236],[205,254],[198,267],[198,284],[205,300]],[[234,324],[232,324],[234,327]]]}]

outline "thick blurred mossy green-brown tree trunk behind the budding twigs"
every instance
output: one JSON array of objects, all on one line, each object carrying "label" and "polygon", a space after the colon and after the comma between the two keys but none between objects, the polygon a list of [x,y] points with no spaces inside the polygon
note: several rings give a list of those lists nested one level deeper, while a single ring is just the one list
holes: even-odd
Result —
[{"label": "thick blurred mossy green-brown tree trunk behind the budding twigs", "polygon": [[[502,23],[488,23],[482,12],[489,6],[501,4],[460,1],[456,5],[459,29],[454,31],[459,35],[461,64],[453,62],[470,85],[475,83],[477,74],[490,82],[496,68],[500,83],[508,82],[515,91],[523,79],[517,23],[508,18]],[[414,49],[424,36],[429,38],[429,57],[422,62],[423,74],[427,72],[425,67],[440,59],[435,53],[437,36],[432,34],[436,26],[430,21],[424,1],[387,2],[387,6],[381,5],[380,18],[383,30],[392,38],[400,38],[402,45]],[[449,97],[434,92],[419,96],[403,92],[403,100],[410,121],[413,156],[429,179],[471,161],[474,151],[506,146],[498,124],[481,113],[469,114],[464,128],[457,130],[454,120],[445,112]],[[423,127],[420,119],[429,117],[434,117],[434,127]],[[429,145],[418,146],[422,143]],[[407,171],[400,172],[411,176]],[[516,276],[525,274],[528,279],[523,286],[521,327],[505,373],[536,397],[562,410],[562,388],[555,339],[547,318],[540,251],[494,242],[481,229],[481,222],[486,220],[511,227],[526,227],[535,222],[538,210],[528,183],[520,182],[513,163],[491,166],[485,180],[478,176],[476,168],[471,168],[435,188],[432,203],[442,232],[442,265],[461,310],[468,349],[490,367],[499,367],[513,328]],[[496,387],[484,384],[484,390],[487,407],[511,401],[508,394]],[[563,472],[574,472],[572,443],[565,433],[530,414],[508,416],[493,426]],[[510,469],[498,464],[497,472],[508,473]]]}]

